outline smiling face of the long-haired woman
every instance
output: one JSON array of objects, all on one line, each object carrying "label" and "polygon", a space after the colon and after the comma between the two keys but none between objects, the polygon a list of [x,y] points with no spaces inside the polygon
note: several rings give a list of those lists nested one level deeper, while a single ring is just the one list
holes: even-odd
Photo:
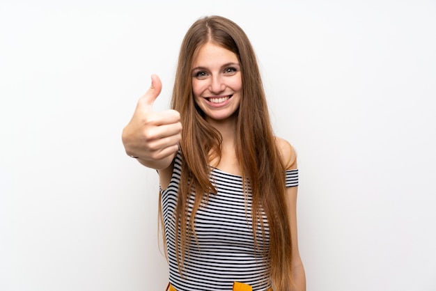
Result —
[{"label": "smiling face of the long-haired woman", "polygon": [[192,63],[192,92],[208,122],[231,120],[242,88],[238,56],[210,42],[198,49]]}]

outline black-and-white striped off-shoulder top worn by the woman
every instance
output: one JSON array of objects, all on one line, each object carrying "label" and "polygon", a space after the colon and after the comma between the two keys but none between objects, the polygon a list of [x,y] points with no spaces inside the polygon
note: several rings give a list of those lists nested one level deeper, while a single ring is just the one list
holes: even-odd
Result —
[{"label": "black-and-white striped off-shoulder top worn by the woman", "polygon": [[[232,290],[234,281],[249,284],[254,291],[270,287],[267,250],[269,230],[263,214],[265,240],[255,248],[251,223],[251,191],[244,198],[242,177],[211,168],[210,180],[217,194],[196,212],[194,227],[198,239],[189,243],[183,277],[176,260],[175,219],[181,158],[176,156],[169,187],[162,191],[162,212],[169,256],[169,281],[178,291]],[[284,182],[284,181],[283,181]],[[286,171],[286,187],[298,185],[298,170]],[[194,199],[192,199],[193,204]],[[190,205],[192,207],[192,204]]]}]

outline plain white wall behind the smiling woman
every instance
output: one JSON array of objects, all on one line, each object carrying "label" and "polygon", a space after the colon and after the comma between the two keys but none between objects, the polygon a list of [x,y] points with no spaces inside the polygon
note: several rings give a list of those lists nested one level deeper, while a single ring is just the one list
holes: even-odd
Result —
[{"label": "plain white wall behind the smiling woman", "polygon": [[0,290],[164,290],[157,174],[120,134],[211,14],[297,148],[308,290],[436,290],[435,1],[65,2],[0,4]]}]

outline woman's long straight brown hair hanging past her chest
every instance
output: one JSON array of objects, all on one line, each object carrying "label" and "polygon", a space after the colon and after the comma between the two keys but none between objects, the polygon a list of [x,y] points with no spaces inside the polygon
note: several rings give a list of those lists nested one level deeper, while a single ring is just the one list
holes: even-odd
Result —
[{"label": "woman's long straight brown hair hanging past her chest", "polygon": [[[270,232],[268,250],[271,278],[276,290],[287,290],[293,285],[291,237],[288,210],[285,199],[284,173],[279,148],[272,131],[267,102],[254,49],[240,26],[219,16],[198,19],[187,31],[182,41],[176,81],[173,88],[171,108],[180,112],[182,122],[182,173],[175,211],[176,254],[182,273],[183,261],[187,255],[189,239],[195,238],[194,217],[201,203],[207,203],[208,196],[216,194],[209,180],[210,153],[219,157],[221,135],[209,125],[196,107],[192,95],[192,63],[196,52],[207,42],[220,45],[238,56],[241,67],[242,90],[237,122],[236,155],[239,157],[244,185],[251,188],[252,223],[255,229],[262,212],[267,217]],[[194,195],[194,207],[189,213],[189,198]],[[180,225],[180,228],[178,226]],[[255,245],[265,238],[254,231]]]}]

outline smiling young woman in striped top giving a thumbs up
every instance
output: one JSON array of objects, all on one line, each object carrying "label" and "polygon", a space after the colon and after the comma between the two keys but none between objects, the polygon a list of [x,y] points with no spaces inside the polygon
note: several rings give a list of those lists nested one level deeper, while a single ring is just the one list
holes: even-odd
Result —
[{"label": "smiling young woman in striped top giving a thumbs up", "polygon": [[123,143],[159,173],[169,290],[306,290],[295,151],[273,134],[244,31],[198,19],[182,42],[172,109],[157,113],[161,88],[153,75]]}]

